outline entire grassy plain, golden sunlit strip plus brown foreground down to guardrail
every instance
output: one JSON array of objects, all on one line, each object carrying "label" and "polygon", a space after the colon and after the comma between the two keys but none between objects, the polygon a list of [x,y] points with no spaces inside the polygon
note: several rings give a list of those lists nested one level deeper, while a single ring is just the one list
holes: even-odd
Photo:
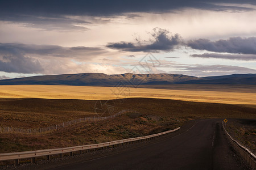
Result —
[{"label": "entire grassy plain, golden sunlit strip plus brown foreground down to guardrail", "polygon": [[[100,107],[98,100],[111,105],[113,113],[123,109],[141,113],[127,113],[105,121],[82,122],[44,134],[1,133],[0,152],[138,137],[174,129],[195,118],[255,118],[255,93],[236,91],[0,86],[0,126],[44,128],[74,118],[96,116],[95,108]],[[125,97],[127,99],[117,99]]]}]

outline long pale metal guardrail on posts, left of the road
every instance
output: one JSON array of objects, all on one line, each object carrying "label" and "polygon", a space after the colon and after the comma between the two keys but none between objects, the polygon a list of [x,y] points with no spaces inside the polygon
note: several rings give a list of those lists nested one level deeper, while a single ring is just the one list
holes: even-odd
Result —
[{"label": "long pale metal guardrail on posts, left of the road", "polygon": [[31,162],[36,163],[36,158],[40,157],[40,156],[46,156],[46,160],[49,160],[50,155],[59,154],[59,157],[63,158],[63,154],[69,153],[69,155],[73,155],[73,152],[79,152],[79,154],[82,154],[82,151],[87,152],[92,149],[97,150],[98,148],[104,148],[104,147],[110,147],[110,146],[114,147],[114,146],[119,146],[119,145],[127,145],[127,144],[147,141],[147,140],[150,140],[153,138],[162,137],[163,135],[166,135],[168,133],[174,132],[179,129],[180,129],[180,127],[176,128],[174,130],[168,130],[168,131],[164,131],[162,133],[147,135],[144,137],[122,139],[119,141],[98,143],[98,144],[93,144],[93,145],[83,145],[83,146],[55,148],[55,149],[48,149],[48,150],[5,153],[5,154],[0,154],[0,161],[14,160],[14,165],[19,165],[20,159],[31,158]]}]

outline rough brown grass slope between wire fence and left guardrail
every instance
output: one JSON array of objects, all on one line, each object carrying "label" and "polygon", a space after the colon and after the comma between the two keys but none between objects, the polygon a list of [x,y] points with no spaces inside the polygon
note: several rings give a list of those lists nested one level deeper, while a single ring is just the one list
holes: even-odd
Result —
[{"label": "rough brown grass slope between wire fence and left guardrail", "polygon": [[127,113],[112,120],[82,122],[79,125],[46,134],[3,133],[0,136],[0,153],[88,145],[134,138],[175,129],[185,119]]}]

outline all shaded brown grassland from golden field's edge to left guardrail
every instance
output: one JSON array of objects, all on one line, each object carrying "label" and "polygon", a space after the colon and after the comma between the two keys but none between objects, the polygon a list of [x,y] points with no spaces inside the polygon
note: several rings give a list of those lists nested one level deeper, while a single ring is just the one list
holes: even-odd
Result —
[{"label": "all shaded brown grassland from golden field's edge to left guardrail", "polygon": [[[46,127],[97,116],[94,100],[1,99],[0,126],[19,128]],[[101,101],[112,106],[112,112],[132,109],[110,120],[81,122],[67,128],[40,134],[1,133],[0,152],[18,152],[88,145],[133,138],[175,129],[198,118],[255,118],[256,109],[243,105],[198,103],[168,99],[118,99]],[[104,107],[103,107],[104,108]],[[102,116],[109,116],[105,113]]]}]

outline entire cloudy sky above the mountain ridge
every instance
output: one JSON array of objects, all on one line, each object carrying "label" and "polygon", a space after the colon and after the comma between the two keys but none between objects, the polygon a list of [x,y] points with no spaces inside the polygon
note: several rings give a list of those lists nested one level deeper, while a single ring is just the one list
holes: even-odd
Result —
[{"label": "entire cloudy sky above the mountain ridge", "polygon": [[256,1],[0,0],[0,79],[256,74]]}]

